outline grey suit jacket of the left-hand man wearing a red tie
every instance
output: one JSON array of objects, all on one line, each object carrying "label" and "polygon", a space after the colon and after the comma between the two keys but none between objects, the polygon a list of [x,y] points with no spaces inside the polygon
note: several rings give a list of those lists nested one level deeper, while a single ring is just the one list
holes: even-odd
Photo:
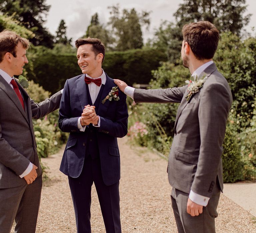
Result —
[{"label": "grey suit jacket of the left-hand man wearing a red tie", "polygon": [[36,104],[18,84],[24,99],[25,111],[11,86],[0,75],[0,188],[26,183],[21,175],[34,163],[42,174],[36,151],[32,118],[38,119],[59,108],[61,92]]}]

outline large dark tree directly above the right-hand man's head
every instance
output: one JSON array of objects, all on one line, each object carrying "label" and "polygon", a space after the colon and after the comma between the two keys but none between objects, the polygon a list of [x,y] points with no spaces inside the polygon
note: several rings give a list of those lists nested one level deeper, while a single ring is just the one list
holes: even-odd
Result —
[{"label": "large dark tree directly above the right-hand man's head", "polygon": [[232,32],[240,35],[241,29],[246,26],[251,14],[245,15],[245,0],[184,0],[174,14],[177,25],[193,21],[209,21],[221,32]]}]

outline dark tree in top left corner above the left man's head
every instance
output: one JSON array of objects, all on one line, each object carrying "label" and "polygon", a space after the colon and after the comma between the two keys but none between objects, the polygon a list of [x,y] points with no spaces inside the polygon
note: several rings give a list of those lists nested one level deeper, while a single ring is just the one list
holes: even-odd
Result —
[{"label": "dark tree in top left corner above the left man's head", "polygon": [[5,0],[0,2],[0,12],[12,16],[35,36],[30,40],[34,45],[53,47],[54,37],[43,27],[44,17],[50,6],[45,0]]}]

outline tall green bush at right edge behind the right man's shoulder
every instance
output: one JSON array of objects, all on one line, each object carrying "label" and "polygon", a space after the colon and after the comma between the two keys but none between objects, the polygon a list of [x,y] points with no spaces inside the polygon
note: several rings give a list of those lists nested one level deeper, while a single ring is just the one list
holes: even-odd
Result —
[{"label": "tall green bush at right edge behind the right man's shoulder", "polygon": [[240,127],[246,128],[253,116],[256,93],[256,38],[242,41],[231,32],[222,33],[214,61],[230,85]]}]

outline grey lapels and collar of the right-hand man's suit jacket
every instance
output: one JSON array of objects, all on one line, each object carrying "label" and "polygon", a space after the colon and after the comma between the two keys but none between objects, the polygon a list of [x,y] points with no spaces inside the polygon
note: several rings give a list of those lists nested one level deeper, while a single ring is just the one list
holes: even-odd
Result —
[{"label": "grey lapels and collar of the right-hand man's suit jacket", "polygon": [[[202,78],[203,76],[205,77],[209,77],[215,70],[217,70],[217,67],[216,65],[213,63],[211,64],[210,66],[208,66],[199,76],[199,79]],[[199,89],[199,92],[200,92],[201,89]],[[180,103],[180,106],[178,108],[178,111],[177,111],[177,115],[176,115],[176,119],[175,119],[175,126],[174,126],[174,131],[176,131],[176,125],[177,125],[177,122],[178,122],[178,119],[183,111],[183,109],[186,107],[186,105],[190,102],[190,100],[193,98],[193,96],[195,95],[192,95],[190,100],[187,101],[185,96],[188,94],[188,89],[186,89],[186,92],[184,93],[183,95],[183,98],[182,98],[182,101]]]}]

